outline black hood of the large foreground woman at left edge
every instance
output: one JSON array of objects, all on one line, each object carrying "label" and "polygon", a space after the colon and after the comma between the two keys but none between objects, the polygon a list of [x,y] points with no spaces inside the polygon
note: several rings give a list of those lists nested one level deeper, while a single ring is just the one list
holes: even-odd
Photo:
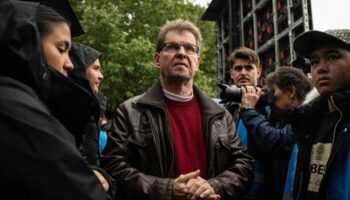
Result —
[{"label": "black hood of the large foreground woman at left edge", "polygon": [[35,17],[38,3],[0,2],[0,74],[33,88],[46,99],[50,73]]}]

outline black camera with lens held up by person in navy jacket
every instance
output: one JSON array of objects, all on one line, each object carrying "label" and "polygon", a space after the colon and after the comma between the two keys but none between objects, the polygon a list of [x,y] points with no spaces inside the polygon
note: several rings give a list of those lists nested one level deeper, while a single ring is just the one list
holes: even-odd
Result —
[{"label": "black camera with lens held up by person in navy jacket", "polygon": [[[240,103],[242,99],[242,89],[237,87],[236,85],[226,85],[222,83],[218,83],[219,88],[221,89],[220,98],[221,103],[226,102],[237,102]],[[269,92],[266,87],[261,88],[264,92],[264,95],[260,97],[258,104],[267,105],[273,101],[273,94]]]}]

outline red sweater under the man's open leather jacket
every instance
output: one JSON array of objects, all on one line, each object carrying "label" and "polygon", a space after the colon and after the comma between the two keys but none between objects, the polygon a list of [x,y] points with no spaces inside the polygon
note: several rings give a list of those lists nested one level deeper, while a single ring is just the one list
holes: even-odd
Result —
[{"label": "red sweater under the man's open leather jacket", "polygon": [[165,102],[173,134],[174,178],[197,169],[200,170],[200,176],[206,178],[205,138],[197,98],[193,97],[188,102],[166,98]]}]

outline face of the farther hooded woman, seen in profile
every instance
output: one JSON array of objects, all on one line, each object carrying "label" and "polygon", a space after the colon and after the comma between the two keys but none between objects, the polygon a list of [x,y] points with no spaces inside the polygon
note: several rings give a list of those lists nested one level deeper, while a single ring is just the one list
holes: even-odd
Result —
[{"label": "face of the farther hooded woman, seen in profile", "polygon": [[100,59],[96,59],[85,71],[92,91],[98,92],[100,83],[103,80]]}]

